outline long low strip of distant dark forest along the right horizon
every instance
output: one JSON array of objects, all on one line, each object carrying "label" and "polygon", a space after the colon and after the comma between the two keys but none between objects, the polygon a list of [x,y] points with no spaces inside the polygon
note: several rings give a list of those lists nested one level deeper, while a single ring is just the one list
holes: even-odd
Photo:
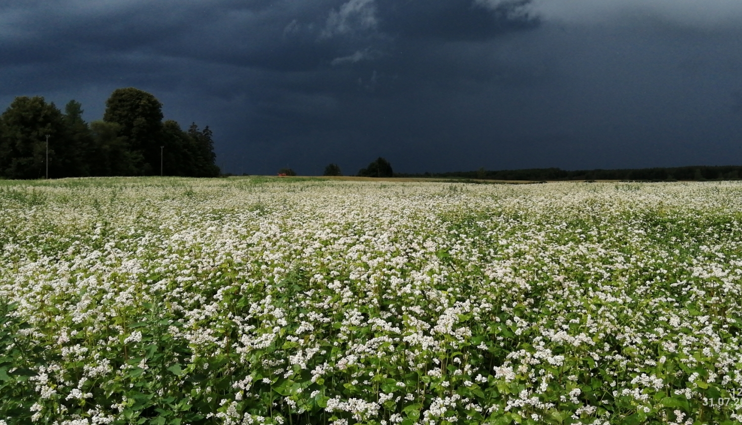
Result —
[{"label": "long low strip of distant dark forest along the right horizon", "polygon": [[628,168],[619,170],[576,170],[559,168],[531,168],[525,170],[453,171],[447,173],[405,174],[395,173],[394,177],[448,177],[458,179],[491,180],[640,180],[667,182],[676,180],[738,180],[742,179],[742,166],[697,165],[672,168]]}]

